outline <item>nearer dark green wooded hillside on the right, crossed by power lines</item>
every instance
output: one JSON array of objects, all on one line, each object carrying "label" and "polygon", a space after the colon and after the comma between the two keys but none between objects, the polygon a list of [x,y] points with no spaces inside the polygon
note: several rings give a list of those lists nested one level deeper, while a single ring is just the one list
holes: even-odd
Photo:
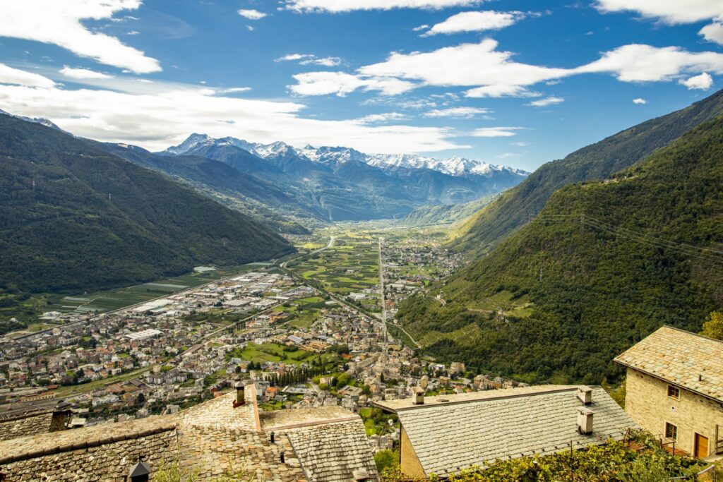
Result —
[{"label": "nearer dark green wooded hillside on the right, crossed by power lines", "polygon": [[400,314],[417,339],[437,334],[426,349],[440,358],[531,382],[599,382],[662,324],[700,330],[723,306],[722,267],[723,117],[607,181],[560,189],[442,288],[446,306],[415,298]]}]

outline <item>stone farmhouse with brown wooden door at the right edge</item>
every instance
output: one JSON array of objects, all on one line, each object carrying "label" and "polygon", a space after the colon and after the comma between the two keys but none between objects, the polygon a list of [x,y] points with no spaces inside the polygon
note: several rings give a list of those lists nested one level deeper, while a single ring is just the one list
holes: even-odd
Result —
[{"label": "stone farmhouse with brown wooden door at the right edge", "polygon": [[643,429],[704,459],[723,454],[723,342],[662,327],[620,356],[625,410]]}]

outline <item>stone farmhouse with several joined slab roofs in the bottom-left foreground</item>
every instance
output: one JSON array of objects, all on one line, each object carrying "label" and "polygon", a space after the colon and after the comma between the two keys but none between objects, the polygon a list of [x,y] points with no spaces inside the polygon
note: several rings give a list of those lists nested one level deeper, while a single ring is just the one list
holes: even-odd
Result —
[{"label": "stone farmhouse with several joined slab roofs in the bottom-left foreground", "polygon": [[[51,430],[0,423],[0,480],[140,482],[177,464],[197,481],[378,481],[361,418],[339,407],[262,412],[253,384],[170,416]],[[57,416],[56,416],[57,419]],[[25,426],[25,434],[18,429]],[[57,428],[57,427],[56,427]],[[20,435],[20,436],[18,436]]]}]

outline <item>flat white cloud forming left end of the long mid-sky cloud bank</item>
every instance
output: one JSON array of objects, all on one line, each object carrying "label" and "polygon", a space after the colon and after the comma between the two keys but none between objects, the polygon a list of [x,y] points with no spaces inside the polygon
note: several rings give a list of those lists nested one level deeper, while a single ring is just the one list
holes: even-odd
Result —
[{"label": "flat white cloud forming left end of the long mid-sky cloud bank", "polygon": [[414,88],[414,84],[392,77],[369,77],[345,72],[306,72],[294,75],[296,85],[288,88],[296,95],[338,95],[358,89],[377,90],[382,95],[398,95]]}]

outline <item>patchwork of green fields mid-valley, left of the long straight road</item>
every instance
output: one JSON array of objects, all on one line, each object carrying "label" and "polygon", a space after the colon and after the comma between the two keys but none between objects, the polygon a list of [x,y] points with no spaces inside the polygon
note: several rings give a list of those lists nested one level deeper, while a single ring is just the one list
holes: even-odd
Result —
[{"label": "patchwork of green fields mid-valley, left of the long straight road", "polygon": [[370,311],[380,311],[379,251],[377,238],[346,232],[334,246],[311,257],[288,263],[288,269],[315,280],[322,288],[340,296],[364,295],[358,302]]}]

